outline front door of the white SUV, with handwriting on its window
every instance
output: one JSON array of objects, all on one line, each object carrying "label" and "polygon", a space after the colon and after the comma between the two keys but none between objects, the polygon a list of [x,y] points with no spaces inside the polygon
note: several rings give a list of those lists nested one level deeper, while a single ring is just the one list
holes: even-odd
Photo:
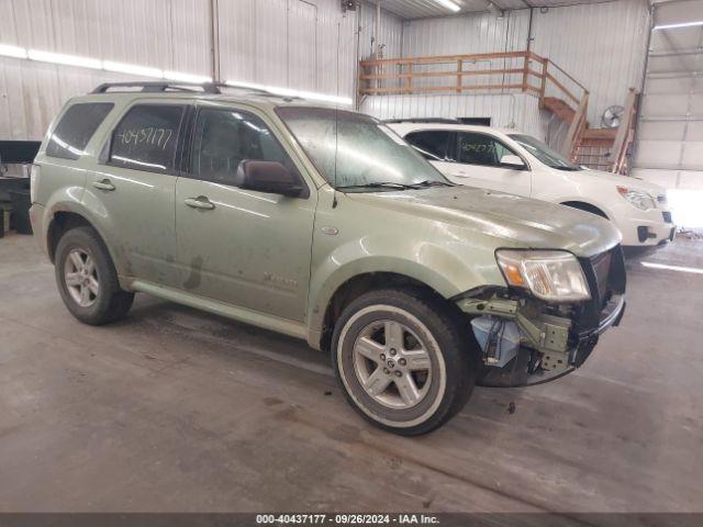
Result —
[{"label": "front door of the white SUV, with handwriting on its window", "polygon": [[445,175],[455,183],[528,197],[531,172],[501,166],[501,158],[517,155],[498,137],[479,132],[457,132]]}]

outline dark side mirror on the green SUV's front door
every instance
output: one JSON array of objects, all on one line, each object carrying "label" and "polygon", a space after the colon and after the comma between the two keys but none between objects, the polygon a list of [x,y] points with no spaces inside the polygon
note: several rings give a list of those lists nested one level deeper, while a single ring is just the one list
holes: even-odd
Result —
[{"label": "dark side mirror on the green SUV's front door", "polygon": [[303,198],[306,190],[298,173],[277,161],[245,159],[237,168],[235,180],[242,189],[289,198]]}]

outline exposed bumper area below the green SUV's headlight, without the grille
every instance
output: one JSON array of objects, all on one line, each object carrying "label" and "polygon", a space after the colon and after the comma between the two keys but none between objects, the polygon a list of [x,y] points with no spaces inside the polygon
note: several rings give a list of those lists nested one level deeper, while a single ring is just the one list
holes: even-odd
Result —
[{"label": "exposed bumper area below the green SUV's headlight, without the grille", "polygon": [[457,305],[473,317],[471,325],[483,350],[486,367],[478,384],[525,386],[556,380],[583,365],[599,336],[620,324],[626,303],[624,294],[612,295],[590,327],[546,313],[540,302],[531,299],[464,299]]}]

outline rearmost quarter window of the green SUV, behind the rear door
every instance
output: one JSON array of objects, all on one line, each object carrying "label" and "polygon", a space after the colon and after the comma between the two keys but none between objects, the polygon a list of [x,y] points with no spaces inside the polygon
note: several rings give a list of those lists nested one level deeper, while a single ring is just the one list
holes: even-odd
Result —
[{"label": "rearmost quarter window of the green SUV, behind the rear door", "polygon": [[86,102],[70,106],[49,137],[46,155],[78,159],[113,105],[111,102]]}]

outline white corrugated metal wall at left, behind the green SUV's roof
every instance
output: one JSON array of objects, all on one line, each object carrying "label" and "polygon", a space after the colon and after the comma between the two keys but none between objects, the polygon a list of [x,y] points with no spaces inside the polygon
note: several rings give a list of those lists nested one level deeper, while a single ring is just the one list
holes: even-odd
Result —
[{"label": "white corrugated metal wall at left, behind the green SUV's roof", "polygon": [[[210,0],[0,0],[0,44],[211,75]],[[354,96],[356,13],[338,0],[219,0],[222,80]],[[339,75],[337,75],[337,71]],[[64,102],[134,76],[0,57],[0,138],[38,139]]]}]

